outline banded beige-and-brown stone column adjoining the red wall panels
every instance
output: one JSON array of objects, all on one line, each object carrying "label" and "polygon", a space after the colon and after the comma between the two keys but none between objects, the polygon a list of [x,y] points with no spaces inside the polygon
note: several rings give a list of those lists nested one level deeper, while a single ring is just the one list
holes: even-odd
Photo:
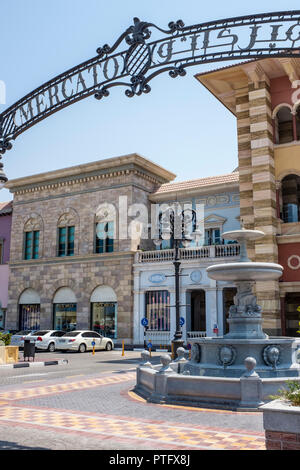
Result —
[{"label": "banded beige-and-brown stone column adjoining the red wall panels", "polygon": [[[276,186],[270,83],[254,64],[249,83],[249,115],[253,185],[254,226],[266,235],[255,244],[255,261],[278,262],[276,241]],[[258,304],[262,306],[263,328],[273,335],[280,333],[278,281],[257,282]]]}]

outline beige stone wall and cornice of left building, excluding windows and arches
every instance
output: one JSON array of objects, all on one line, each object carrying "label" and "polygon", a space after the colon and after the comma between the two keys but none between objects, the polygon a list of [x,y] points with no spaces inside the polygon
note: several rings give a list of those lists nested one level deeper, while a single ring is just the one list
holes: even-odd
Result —
[{"label": "beige stone wall and cornice of left building, excluding windows and arches", "polygon": [[[98,286],[108,286],[117,297],[117,338],[133,338],[134,252],[139,243],[121,236],[129,220],[121,211],[120,197],[128,206],[148,205],[149,193],[175,175],[143,157],[132,154],[73,168],[10,181],[14,195],[10,254],[7,328],[19,327],[19,299],[26,289],[40,297],[40,328],[53,328],[53,298],[61,287],[76,297],[77,328],[89,329],[90,298]],[[116,240],[112,253],[95,253],[95,223],[101,204],[117,211]],[[75,226],[74,255],[58,256],[58,227],[70,220]],[[126,221],[126,222],[125,222]],[[29,229],[28,229],[29,226]],[[37,259],[24,259],[24,233],[39,230]]]}]

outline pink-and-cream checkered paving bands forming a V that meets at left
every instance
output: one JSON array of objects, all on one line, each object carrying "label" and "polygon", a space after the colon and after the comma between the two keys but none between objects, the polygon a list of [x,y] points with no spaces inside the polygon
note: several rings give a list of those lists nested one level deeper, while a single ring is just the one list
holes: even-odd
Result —
[{"label": "pink-and-cream checkered paving bands forming a V that meets at left", "polygon": [[[170,450],[265,450],[264,434],[259,432],[189,425],[188,419],[186,423],[154,421],[18,403],[21,399],[80,391],[92,387],[109,387],[121,382],[132,382],[134,378],[135,373],[127,372],[2,392],[0,394],[0,424],[33,427],[55,431],[58,434],[75,433],[78,436],[111,440],[114,443],[126,442],[132,446],[132,449],[135,449],[136,445],[143,445],[149,449]],[[128,396],[128,399],[132,400],[133,395],[131,394],[131,398]],[[159,407],[160,405],[151,406]],[[200,409],[193,411],[198,412],[199,417],[201,412],[208,412],[208,410]],[[220,413],[220,410],[210,410],[210,412]],[[224,412],[225,416],[226,412]]]}]

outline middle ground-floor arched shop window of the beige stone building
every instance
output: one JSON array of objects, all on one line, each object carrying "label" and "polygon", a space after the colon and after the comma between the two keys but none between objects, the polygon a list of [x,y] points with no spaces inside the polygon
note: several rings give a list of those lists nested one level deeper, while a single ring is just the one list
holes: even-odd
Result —
[{"label": "middle ground-floor arched shop window of the beige stone building", "polygon": [[69,287],[58,289],[53,298],[53,328],[73,331],[77,326],[77,299]]}]

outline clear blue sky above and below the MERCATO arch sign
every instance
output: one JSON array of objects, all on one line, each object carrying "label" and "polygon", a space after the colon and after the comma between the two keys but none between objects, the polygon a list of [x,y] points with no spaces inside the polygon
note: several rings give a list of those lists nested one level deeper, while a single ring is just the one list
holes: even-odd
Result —
[{"label": "clear blue sky above and below the MERCATO arch sign", "polygon": [[[199,0],[2,0],[0,80],[6,105],[55,75],[113,44],[133,17],[166,28],[239,15],[296,10],[298,1]],[[218,65],[214,65],[217,67]],[[3,157],[10,179],[138,152],[178,175],[177,181],[233,171],[237,166],[236,123],[194,78],[208,69],[191,67],[183,78],[167,74],[152,91],[127,98],[115,88],[108,98],[87,98],[19,136]],[[0,191],[0,201],[11,199]]]}]

